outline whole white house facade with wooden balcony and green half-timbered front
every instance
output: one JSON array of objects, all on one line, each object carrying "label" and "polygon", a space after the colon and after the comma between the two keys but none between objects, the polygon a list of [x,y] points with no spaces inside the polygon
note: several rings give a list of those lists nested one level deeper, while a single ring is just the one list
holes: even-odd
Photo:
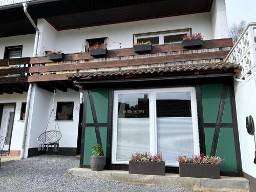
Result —
[{"label": "whole white house facade with wooden balcony and green half-timbered front", "polygon": [[[134,152],[161,152],[170,173],[179,172],[178,155],[204,153],[225,159],[223,176],[255,178],[244,122],[255,115],[251,103],[251,112],[244,108],[254,76],[233,83],[242,64],[230,60],[225,1],[185,2],[0,2],[5,151],[80,155],[80,166],[89,167],[92,146],[101,144],[106,168],[126,170]],[[182,37],[194,33],[202,34],[201,47],[183,46]],[[134,50],[146,41],[150,50]],[[90,54],[96,44],[104,55]],[[61,133],[58,151],[38,150],[38,136],[51,130]]]}]

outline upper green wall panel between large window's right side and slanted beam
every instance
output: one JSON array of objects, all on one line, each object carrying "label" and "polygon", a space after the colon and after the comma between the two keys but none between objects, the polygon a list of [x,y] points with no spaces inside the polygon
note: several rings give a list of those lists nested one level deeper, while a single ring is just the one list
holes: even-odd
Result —
[{"label": "upper green wall panel between large window's right side and slanted beam", "polygon": [[203,115],[205,123],[216,123],[223,84],[203,84]]}]

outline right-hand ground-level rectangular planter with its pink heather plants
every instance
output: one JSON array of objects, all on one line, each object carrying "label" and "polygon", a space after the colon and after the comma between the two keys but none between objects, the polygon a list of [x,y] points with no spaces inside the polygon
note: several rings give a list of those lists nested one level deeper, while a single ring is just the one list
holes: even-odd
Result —
[{"label": "right-hand ground-level rectangular planter with its pink heather plants", "polygon": [[196,155],[193,157],[179,156],[180,177],[197,177],[220,179],[220,163],[222,159],[216,156]]}]

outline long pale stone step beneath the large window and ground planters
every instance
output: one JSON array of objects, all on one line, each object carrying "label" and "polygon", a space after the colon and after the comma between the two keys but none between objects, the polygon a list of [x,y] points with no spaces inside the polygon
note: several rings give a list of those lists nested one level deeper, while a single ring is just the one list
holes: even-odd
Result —
[{"label": "long pale stone step beneath the large window and ground planters", "polygon": [[109,181],[180,186],[203,191],[249,191],[249,181],[243,177],[221,177],[221,179],[180,177],[178,174],[166,174],[165,176],[135,175],[123,170],[103,170],[93,172],[89,168],[71,168],[69,174],[80,177],[105,179]]}]

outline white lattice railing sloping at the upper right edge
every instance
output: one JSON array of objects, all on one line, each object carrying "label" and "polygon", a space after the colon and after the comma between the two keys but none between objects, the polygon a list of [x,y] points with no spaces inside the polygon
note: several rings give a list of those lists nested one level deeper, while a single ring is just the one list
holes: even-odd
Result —
[{"label": "white lattice railing sloping at the upper right edge", "polygon": [[247,25],[225,61],[235,62],[241,66],[239,79],[246,79],[256,71],[256,23]]}]

